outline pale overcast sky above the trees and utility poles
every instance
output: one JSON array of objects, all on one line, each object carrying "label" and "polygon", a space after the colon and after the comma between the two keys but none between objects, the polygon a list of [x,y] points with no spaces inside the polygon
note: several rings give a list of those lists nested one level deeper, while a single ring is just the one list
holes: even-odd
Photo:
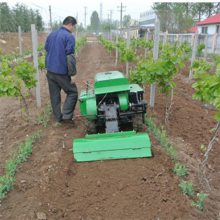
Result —
[{"label": "pale overcast sky above the trees and utility poles", "polygon": [[[0,0],[0,2],[4,2]],[[133,19],[139,20],[140,13],[151,10],[153,1],[151,0],[5,0],[10,7],[16,3],[23,3],[32,9],[38,9],[45,23],[49,22],[49,5],[51,5],[52,20],[61,20],[68,16],[78,16],[78,24],[84,24],[85,7],[87,7],[86,24],[90,23],[90,17],[93,11],[100,15],[100,4],[102,3],[102,17],[108,18],[112,10],[113,20],[120,20],[119,6],[125,6],[123,15],[131,15]]]}]

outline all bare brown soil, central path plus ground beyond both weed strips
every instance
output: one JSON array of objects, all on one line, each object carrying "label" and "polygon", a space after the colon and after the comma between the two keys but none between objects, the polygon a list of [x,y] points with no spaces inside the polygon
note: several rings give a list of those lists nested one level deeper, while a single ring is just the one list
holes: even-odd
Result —
[{"label": "all bare brown soil, central path plus ground beyond both weed strips", "polygon": [[[114,57],[96,42],[89,42],[78,57],[78,89],[95,73],[122,69],[115,67]],[[45,75],[41,76],[43,104],[48,102]],[[198,163],[202,158],[200,145],[207,144],[214,125],[213,112],[191,99],[192,89],[183,76],[177,78],[174,106],[170,118],[170,138],[197,179]],[[148,100],[148,94],[146,98]],[[32,114],[34,102],[29,103]],[[0,174],[4,161],[27,134],[38,126],[21,118],[19,102],[0,98]],[[157,121],[164,120],[164,98],[156,98]],[[76,114],[79,114],[77,108]],[[198,211],[180,192],[173,164],[153,139],[154,157],[148,159],[76,163],[72,156],[72,139],[83,137],[84,122],[76,118],[75,125],[56,127],[53,120],[42,128],[44,136],[34,146],[33,155],[16,174],[16,184],[0,204],[2,220],[32,219],[219,219],[220,160],[219,143],[210,156],[213,190]],[[41,215],[41,216],[40,216]]]}]

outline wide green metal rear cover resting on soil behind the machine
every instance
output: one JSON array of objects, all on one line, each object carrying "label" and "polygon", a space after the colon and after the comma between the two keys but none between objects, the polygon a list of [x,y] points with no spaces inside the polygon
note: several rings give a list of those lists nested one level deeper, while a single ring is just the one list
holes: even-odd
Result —
[{"label": "wide green metal rear cover resting on soil behind the machine", "polygon": [[135,131],[86,135],[73,140],[73,154],[78,162],[151,157],[147,133]]}]

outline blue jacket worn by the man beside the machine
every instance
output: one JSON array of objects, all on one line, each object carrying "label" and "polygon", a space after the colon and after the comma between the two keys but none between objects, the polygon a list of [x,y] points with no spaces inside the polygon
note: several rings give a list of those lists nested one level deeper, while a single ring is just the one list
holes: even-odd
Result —
[{"label": "blue jacket worn by the man beside the machine", "polygon": [[66,56],[75,53],[75,38],[65,27],[52,32],[46,40],[46,68],[48,71],[67,75]]}]

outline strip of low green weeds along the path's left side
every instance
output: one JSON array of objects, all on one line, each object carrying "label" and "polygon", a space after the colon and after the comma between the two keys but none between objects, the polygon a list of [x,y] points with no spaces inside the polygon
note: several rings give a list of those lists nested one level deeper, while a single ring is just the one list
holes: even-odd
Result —
[{"label": "strip of low green weeds along the path's left side", "polygon": [[33,135],[28,136],[19,146],[18,152],[5,162],[5,174],[0,176],[0,200],[5,198],[6,194],[12,189],[17,167],[32,154],[33,144],[41,135],[41,131],[37,131]]}]

